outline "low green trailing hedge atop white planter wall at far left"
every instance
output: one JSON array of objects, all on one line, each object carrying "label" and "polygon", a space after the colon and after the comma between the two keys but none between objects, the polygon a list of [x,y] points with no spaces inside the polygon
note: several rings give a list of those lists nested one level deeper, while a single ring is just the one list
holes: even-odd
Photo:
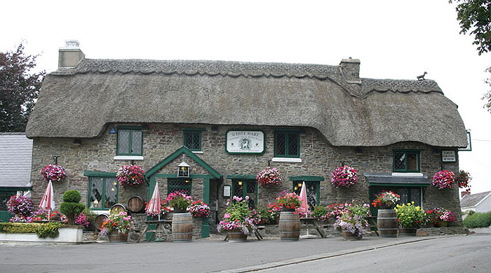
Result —
[{"label": "low green trailing hedge atop white planter wall at far left", "polygon": [[56,238],[60,235],[58,228],[62,223],[0,223],[0,232],[36,233],[39,238]]}]

